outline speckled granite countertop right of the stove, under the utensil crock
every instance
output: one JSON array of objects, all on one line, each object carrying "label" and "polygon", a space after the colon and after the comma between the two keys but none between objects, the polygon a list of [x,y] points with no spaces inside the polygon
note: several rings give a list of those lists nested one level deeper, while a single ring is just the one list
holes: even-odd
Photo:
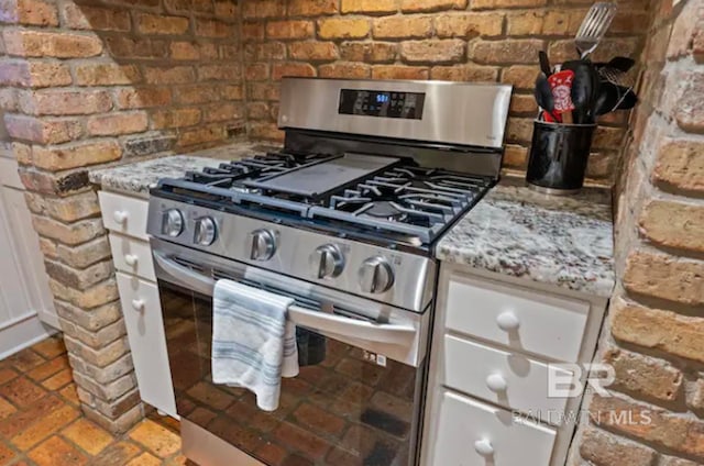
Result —
[{"label": "speckled granite countertop right of the stove, under the utensil crock", "polygon": [[609,297],[614,288],[610,191],[546,196],[506,178],[441,240],[441,260]]}]

